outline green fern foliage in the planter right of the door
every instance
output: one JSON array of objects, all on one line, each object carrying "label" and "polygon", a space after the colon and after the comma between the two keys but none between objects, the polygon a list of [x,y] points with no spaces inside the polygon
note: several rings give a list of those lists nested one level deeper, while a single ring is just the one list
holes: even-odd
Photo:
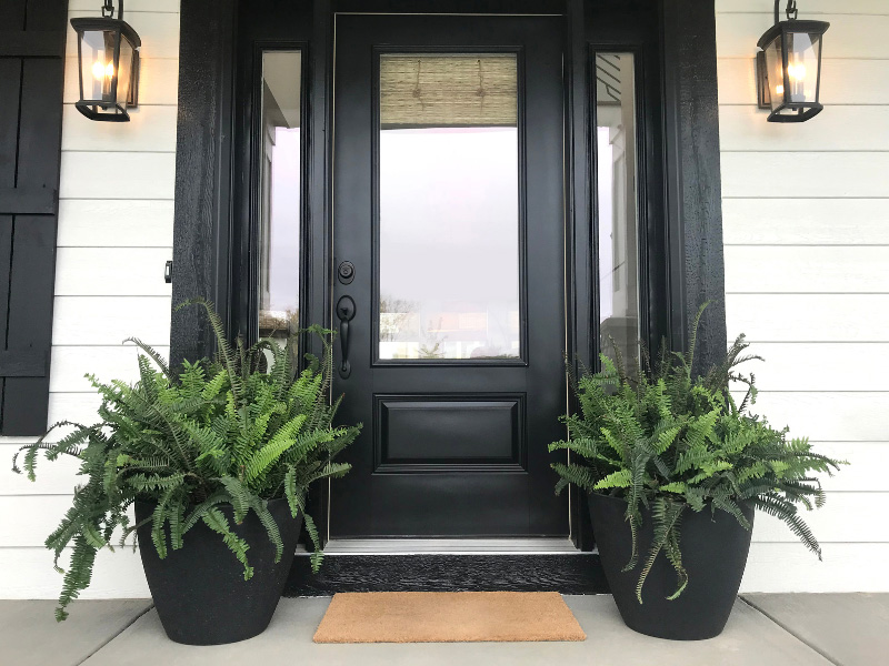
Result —
[{"label": "green fern foliage in the planter right of the door", "polygon": [[[653,365],[642,350],[632,376],[617,347],[615,359],[601,355],[601,371],[569,379],[580,412],[563,421],[570,438],[550,444],[550,451],[577,454],[572,464],[556,463],[556,492],[569,484],[585,492],[607,493],[627,501],[626,519],[632,536],[630,561],[639,566],[639,529],[650,507],[653,541],[647,544],[637,597],[657,558],[667,557],[677,575],[678,597],[688,585],[682,565],[680,525],[688,511],[709,508],[731,515],[746,529],[743,506],[783,521],[819,558],[818,541],[799,515],[825,504],[825,493],[812,473],[832,474],[846,463],[815,453],[808,440],[788,440],[787,430],[772,428],[749,413],[756,402],[756,377],[738,366],[760,360],[747,354],[739,336],[726,357],[707,372],[695,372],[698,326],[692,326],[687,352],[669,352],[667,343]],[[732,384],[747,387],[738,405]]]}]

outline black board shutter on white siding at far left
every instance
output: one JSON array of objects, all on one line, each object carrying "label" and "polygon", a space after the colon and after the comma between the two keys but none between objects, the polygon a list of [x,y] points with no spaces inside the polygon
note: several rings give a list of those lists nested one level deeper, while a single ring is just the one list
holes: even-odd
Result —
[{"label": "black board shutter on white siding at far left", "polygon": [[0,434],[49,406],[68,0],[0,0]]}]

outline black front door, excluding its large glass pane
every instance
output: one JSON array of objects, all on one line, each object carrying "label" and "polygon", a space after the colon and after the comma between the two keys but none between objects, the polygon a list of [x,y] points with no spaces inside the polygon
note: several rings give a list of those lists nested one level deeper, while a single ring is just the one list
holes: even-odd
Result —
[{"label": "black front door, excluding its large glass pane", "polygon": [[[333,390],[346,392],[339,412],[343,421],[363,422],[366,431],[372,424],[373,430],[342,454],[342,460],[352,464],[352,473],[332,484],[331,533],[567,536],[568,498],[553,494],[557,477],[550,468],[550,463],[563,457],[545,446],[565,436],[558,416],[566,411],[568,392],[561,361],[566,253],[561,18],[387,12],[337,13],[336,21],[333,253],[336,262],[353,263],[354,275],[348,284],[336,284],[333,297],[336,302],[354,296],[357,315],[354,333],[350,333],[352,370],[348,379],[333,377]],[[372,342],[379,335],[374,330],[379,326],[377,307],[371,304],[379,303],[381,289],[382,155],[380,133],[370,128],[380,125],[384,53],[513,58],[519,109],[516,138],[521,155],[515,174],[520,185],[513,222],[518,225],[521,294],[519,357],[406,363],[381,359]],[[373,232],[364,233],[369,218]],[[446,404],[450,407],[443,410]],[[510,425],[495,425],[493,405],[498,405],[497,413],[511,414]],[[401,440],[402,451],[417,456],[413,464],[407,456],[402,464],[383,467],[383,442],[398,446],[399,438],[399,428],[389,430],[384,424],[407,414],[430,427],[439,425],[423,442]],[[478,420],[473,421],[476,427],[487,428],[478,440],[466,432],[467,440],[478,447],[476,455],[487,450],[492,457],[433,461],[436,454],[428,446],[434,438],[431,432],[452,432],[466,418]],[[449,425],[441,425],[442,420]],[[493,442],[509,442],[511,454],[502,456],[500,450],[495,458],[489,448]],[[529,442],[536,445],[529,446]]]}]

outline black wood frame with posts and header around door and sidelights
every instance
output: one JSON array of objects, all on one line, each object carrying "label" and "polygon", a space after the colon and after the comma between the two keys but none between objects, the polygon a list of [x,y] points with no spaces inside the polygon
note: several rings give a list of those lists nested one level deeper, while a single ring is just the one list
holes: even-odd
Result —
[{"label": "black wood frame with posts and header around door and sidelights", "polygon": [[[328,322],[332,266],[330,248],[329,164],[331,142],[328,94],[332,90],[332,29],[334,12],[417,11],[412,0],[267,0],[274,12],[296,12],[304,29],[308,54],[306,254],[313,275],[307,286],[307,321]],[[661,158],[658,186],[645,202],[649,269],[646,315],[649,337],[661,334],[683,346],[700,303],[715,301],[699,333],[698,362],[707,364],[725,351],[727,333],[722,254],[719,119],[717,104],[715,0],[428,0],[432,13],[562,13],[567,34],[566,108],[568,150],[566,193],[569,219],[568,349],[579,362],[595,360],[598,337],[593,289],[596,236],[592,233],[589,67],[591,49],[638,48],[640,24],[655,36],[649,42],[643,81],[647,120],[656,128],[647,148]],[[177,145],[176,218],[173,243],[173,305],[196,295],[217,303],[230,331],[246,325],[244,300],[236,289],[232,256],[240,255],[242,213],[232,199],[233,183],[246,174],[236,151],[239,114],[234,103],[239,77],[239,12],[247,0],[189,0],[182,3],[180,36],[179,124]],[[300,4],[302,8],[294,9]],[[602,16],[617,17],[610,33],[597,33]],[[641,18],[640,18],[641,17]],[[646,19],[648,17],[648,19]],[[641,22],[641,23],[640,23]],[[622,28],[621,28],[622,26]],[[266,36],[273,40],[274,36]],[[656,46],[651,51],[650,47]],[[240,79],[242,80],[242,79]],[[650,172],[649,172],[650,173]],[[243,205],[243,202],[241,204]],[[243,209],[241,209],[243,211]],[[329,323],[329,322],[328,322]],[[212,332],[196,309],[176,312],[171,329],[171,360],[193,359],[213,351]],[[317,513],[326,514],[321,493]],[[583,502],[571,498],[573,537],[579,547],[592,546]]]}]

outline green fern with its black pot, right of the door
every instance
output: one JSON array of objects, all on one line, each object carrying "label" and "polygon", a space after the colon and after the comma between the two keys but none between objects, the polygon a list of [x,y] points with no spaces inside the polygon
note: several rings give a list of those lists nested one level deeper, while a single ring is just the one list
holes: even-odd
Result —
[{"label": "green fern with its black pot, right of the door", "polygon": [[[789,440],[750,413],[753,375],[738,365],[741,335],[703,375],[692,372],[698,312],[689,351],[653,363],[642,354],[632,372],[601,356],[602,371],[573,382],[580,413],[566,420],[571,464],[553,464],[557,492],[576,484],[589,506],[602,567],[623,622],[650,636],[702,639],[719,635],[740,588],[755,511],[783,521],[821,557],[799,508],[825,504],[815,473],[841,463]],[[746,389],[738,403],[732,385]]]}]

